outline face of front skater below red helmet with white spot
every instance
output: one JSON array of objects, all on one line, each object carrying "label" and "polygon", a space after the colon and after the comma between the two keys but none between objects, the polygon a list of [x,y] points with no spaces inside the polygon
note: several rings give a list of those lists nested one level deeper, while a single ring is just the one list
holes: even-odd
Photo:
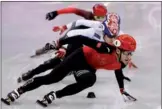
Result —
[{"label": "face of front skater below red helmet with white spot", "polygon": [[121,52],[121,62],[123,62],[125,65],[128,64],[128,62],[132,58],[132,52],[131,51],[122,51]]}]

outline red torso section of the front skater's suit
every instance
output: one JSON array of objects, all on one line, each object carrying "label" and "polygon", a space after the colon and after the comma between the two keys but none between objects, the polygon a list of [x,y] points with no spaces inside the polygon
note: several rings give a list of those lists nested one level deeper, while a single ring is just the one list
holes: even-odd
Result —
[{"label": "red torso section of the front skater's suit", "polygon": [[85,46],[83,52],[88,64],[95,69],[116,70],[121,68],[115,51],[111,54],[98,53],[96,50]]}]

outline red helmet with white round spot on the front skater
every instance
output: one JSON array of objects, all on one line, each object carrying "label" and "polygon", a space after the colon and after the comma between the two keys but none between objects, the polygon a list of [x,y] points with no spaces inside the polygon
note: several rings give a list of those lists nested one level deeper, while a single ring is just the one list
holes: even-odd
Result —
[{"label": "red helmet with white round spot on the front skater", "polygon": [[114,41],[114,44],[125,51],[135,51],[136,50],[136,40],[128,35],[128,34],[122,34],[119,35],[117,40]]}]

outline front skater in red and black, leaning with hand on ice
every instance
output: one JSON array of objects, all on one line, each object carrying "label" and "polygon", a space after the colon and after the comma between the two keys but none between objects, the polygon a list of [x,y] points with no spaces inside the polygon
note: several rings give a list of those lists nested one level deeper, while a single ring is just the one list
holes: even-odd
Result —
[{"label": "front skater in red and black, leaning with hand on ice", "polygon": [[[97,69],[121,69],[122,64],[128,64],[132,53],[136,49],[135,39],[128,34],[120,35],[112,45],[80,36],[65,39],[61,38],[58,45],[61,46],[74,41],[80,41],[87,46],[71,53],[49,74],[30,79],[24,85],[8,93],[6,99],[2,98],[1,100],[6,104],[10,104],[26,92],[37,89],[42,85],[57,83],[64,79],[70,71],[79,71],[74,74],[76,79],[75,83],[69,84],[61,90],[51,91],[43,97],[43,100],[39,103],[47,106],[47,104],[52,103],[52,101],[57,98],[72,96],[93,86],[96,82],[95,72]],[[123,83],[123,78],[119,79]],[[124,86],[122,86],[120,90],[123,96],[133,101],[136,100],[124,90]]]}]

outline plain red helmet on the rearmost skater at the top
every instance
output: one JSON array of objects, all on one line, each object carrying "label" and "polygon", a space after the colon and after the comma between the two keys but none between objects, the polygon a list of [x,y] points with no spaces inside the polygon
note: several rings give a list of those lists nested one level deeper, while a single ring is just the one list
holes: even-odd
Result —
[{"label": "plain red helmet on the rearmost skater at the top", "polygon": [[95,4],[93,6],[93,14],[94,14],[94,16],[106,16],[107,9],[102,4]]}]

